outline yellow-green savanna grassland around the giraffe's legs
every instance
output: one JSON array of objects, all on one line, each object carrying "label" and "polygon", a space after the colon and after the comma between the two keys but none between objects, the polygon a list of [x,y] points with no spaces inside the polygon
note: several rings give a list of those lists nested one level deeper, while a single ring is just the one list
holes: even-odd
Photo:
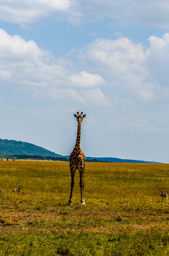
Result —
[{"label": "yellow-green savanna grassland around the giraffe's legs", "polygon": [[[1,161],[0,255],[169,255],[169,164]],[[21,193],[12,188],[21,186]],[[30,192],[33,191],[33,196]]]}]

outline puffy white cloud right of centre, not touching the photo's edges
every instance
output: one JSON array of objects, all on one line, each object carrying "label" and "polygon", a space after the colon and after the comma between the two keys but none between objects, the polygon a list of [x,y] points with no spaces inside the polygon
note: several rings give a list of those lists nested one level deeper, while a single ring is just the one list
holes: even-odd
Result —
[{"label": "puffy white cloud right of centre, not touching the photo's edges", "polygon": [[[97,39],[89,44],[81,51],[82,55],[85,51],[84,58],[95,62],[96,65],[105,65],[106,68],[116,68],[118,72],[126,69],[126,64],[140,65],[144,61],[144,52],[141,44],[134,44],[128,38],[120,38],[117,40]],[[119,65],[121,69],[119,69]],[[120,74],[121,75],[121,74]]]}]

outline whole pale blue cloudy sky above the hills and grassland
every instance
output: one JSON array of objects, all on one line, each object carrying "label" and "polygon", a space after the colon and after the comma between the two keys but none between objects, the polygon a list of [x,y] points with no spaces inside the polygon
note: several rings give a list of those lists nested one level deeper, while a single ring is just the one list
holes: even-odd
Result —
[{"label": "whole pale blue cloudy sky above the hills and grassland", "polygon": [[169,163],[167,0],[0,0],[1,139]]}]

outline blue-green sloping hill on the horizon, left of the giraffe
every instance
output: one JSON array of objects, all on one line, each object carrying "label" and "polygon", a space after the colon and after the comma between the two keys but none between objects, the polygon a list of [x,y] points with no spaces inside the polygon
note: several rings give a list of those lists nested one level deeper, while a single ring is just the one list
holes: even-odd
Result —
[{"label": "blue-green sloping hill on the horizon, left of the giraffe", "polygon": [[30,144],[28,142],[0,139],[0,156],[14,155],[62,157],[61,155],[44,149],[41,146],[35,146],[34,144]]}]

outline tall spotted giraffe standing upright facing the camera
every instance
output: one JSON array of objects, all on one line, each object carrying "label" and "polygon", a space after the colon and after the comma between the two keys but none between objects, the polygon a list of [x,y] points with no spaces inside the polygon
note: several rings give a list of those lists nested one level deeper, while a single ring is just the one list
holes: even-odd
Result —
[{"label": "tall spotted giraffe standing upright facing the camera", "polygon": [[73,188],[74,188],[74,176],[76,173],[76,170],[79,172],[80,176],[80,188],[81,188],[81,205],[86,206],[86,203],[84,201],[83,197],[83,174],[85,171],[85,162],[86,162],[86,157],[83,154],[83,151],[81,150],[81,122],[84,117],[86,117],[86,114],[74,114],[74,117],[76,117],[77,122],[78,122],[78,131],[77,131],[77,137],[76,137],[76,144],[74,146],[74,150],[71,152],[69,156],[69,164],[70,164],[70,172],[71,172],[71,194],[69,198],[69,203],[68,205],[71,205],[71,198],[72,198],[72,193],[73,193]]}]

